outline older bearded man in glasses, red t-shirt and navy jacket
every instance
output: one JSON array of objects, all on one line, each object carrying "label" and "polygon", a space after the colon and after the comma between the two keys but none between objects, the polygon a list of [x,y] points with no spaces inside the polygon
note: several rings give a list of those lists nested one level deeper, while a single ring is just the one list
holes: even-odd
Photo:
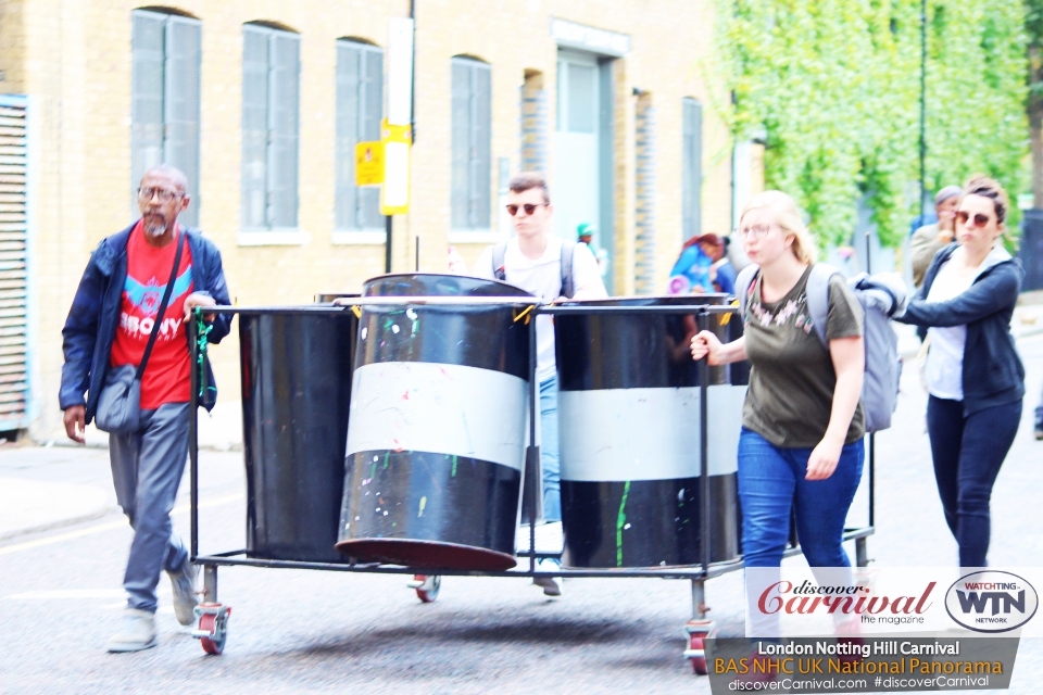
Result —
[{"label": "older bearded man in glasses, red t-shirt and navy jacket", "polygon": [[[146,173],[138,189],[141,218],[98,244],[62,330],[59,402],[70,439],[85,442],[84,428],[98,415],[105,388],[120,386],[117,375],[134,374],[140,382],[140,397],[131,405],[137,418],[130,418],[137,427],[109,438],[116,500],[134,529],[123,580],[127,608],[109,640],[110,652],[156,645],[155,587],[163,570],[171,577],[178,622],[190,624],[197,604],[196,569],[171,523],[192,417],[186,327],[197,306],[229,300],[217,248],[177,222],[190,202],[187,184],[169,165]],[[206,318],[209,342],[219,342],[230,317]],[[209,364],[205,378],[213,383]],[[213,406],[212,399],[206,402]]]}]

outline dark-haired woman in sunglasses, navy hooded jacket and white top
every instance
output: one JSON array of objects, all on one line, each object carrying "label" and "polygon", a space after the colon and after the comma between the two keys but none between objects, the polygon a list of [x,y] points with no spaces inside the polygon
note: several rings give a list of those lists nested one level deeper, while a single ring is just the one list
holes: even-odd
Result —
[{"label": "dark-haired woman in sunglasses, navy hooded jacket and white top", "polygon": [[989,500],[1021,417],[1025,369],[1010,336],[1023,271],[1000,238],[1007,194],[975,176],[956,211],[956,242],[935,255],[905,324],[927,327],[927,430],[960,567],[984,567]]}]

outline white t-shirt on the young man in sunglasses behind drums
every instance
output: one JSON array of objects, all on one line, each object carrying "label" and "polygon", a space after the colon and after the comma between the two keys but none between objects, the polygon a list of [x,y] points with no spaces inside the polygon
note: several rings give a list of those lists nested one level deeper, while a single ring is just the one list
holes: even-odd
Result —
[{"label": "white t-shirt on the young man in sunglasses behind drums", "polygon": [[[546,249],[537,260],[528,258],[518,247],[518,238],[512,237],[503,255],[503,270],[507,282],[553,302],[562,295],[562,240],[546,236]],[[472,273],[475,277],[494,280],[492,247],[481,252]],[[598,260],[585,243],[577,243],[573,251],[573,287],[580,289],[591,282],[604,288]],[[536,317],[536,378],[546,381],[556,371],[554,362],[554,323],[550,316]]]}]

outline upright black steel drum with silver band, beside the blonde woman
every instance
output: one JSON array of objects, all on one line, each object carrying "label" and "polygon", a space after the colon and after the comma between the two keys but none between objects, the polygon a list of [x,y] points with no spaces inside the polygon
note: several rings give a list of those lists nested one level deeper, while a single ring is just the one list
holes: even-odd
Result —
[{"label": "upright black steel drum with silver band, beside the blonde woman", "polygon": [[[725,304],[727,295],[573,302],[580,306]],[[738,315],[711,315],[722,341]],[[576,568],[702,561],[700,370],[693,315],[555,317],[563,564]],[[711,559],[739,556],[737,450],[745,371],[709,367]],[[734,382],[733,382],[734,381]]]}]

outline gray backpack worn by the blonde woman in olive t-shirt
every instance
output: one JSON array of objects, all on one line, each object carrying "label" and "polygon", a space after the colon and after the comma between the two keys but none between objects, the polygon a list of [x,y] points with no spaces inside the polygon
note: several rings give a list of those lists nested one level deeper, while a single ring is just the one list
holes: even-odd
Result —
[{"label": "gray backpack worn by the blonde woman in olive t-shirt", "polygon": [[[736,295],[743,315],[759,269],[757,265],[749,265],[736,279]],[[840,270],[830,265],[816,263],[807,278],[807,311],[818,342],[826,352],[829,352],[826,339],[829,279],[838,273]],[[891,328],[891,316],[905,304],[905,292],[901,283],[888,281],[885,276],[869,277],[865,273],[850,279],[847,286],[858,299],[865,317],[866,372],[862,384],[862,409],[866,416],[866,432],[878,432],[891,427],[891,415],[897,405],[902,358],[899,356],[899,338]]]}]

